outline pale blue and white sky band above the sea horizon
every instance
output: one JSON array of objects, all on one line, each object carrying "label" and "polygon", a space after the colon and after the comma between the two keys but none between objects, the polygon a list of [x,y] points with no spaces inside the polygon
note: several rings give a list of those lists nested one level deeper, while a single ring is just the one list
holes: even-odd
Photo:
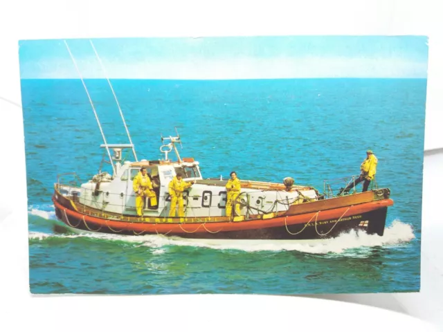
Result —
[{"label": "pale blue and white sky band above the sea horizon", "polygon": [[[66,39],[84,78],[426,78],[427,38],[280,36]],[[19,42],[22,79],[80,78],[62,39]]]}]

